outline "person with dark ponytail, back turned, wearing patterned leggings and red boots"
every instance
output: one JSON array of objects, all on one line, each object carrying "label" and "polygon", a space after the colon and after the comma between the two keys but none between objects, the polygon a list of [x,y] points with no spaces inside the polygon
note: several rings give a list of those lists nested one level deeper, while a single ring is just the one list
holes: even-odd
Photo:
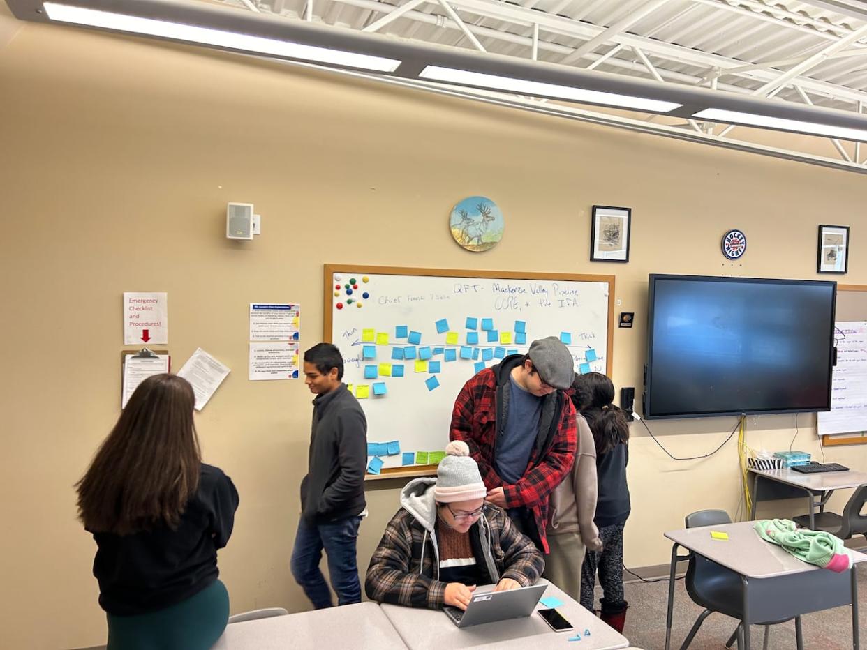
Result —
[{"label": "person with dark ponytail, back turned, wearing patterned leggings and red boots", "polygon": [[602,373],[582,374],[574,384],[573,400],[596,445],[598,497],[593,521],[603,542],[601,551],[588,550],[581,568],[581,604],[593,611],[596,573],[602,585],[600,616],[623,632],[628,603],[623,598],[623,526],[629,517],[629,420],[611,403],[614,384]]}]

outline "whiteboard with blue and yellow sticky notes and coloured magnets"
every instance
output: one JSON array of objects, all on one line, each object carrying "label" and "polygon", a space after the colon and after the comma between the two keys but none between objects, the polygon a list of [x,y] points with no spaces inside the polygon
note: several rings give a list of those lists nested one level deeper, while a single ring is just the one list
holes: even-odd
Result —
[{"label": "whiteboard with blue and yellow sticky notes and coloured magnets", "polygon": [[[562,337],[576,372],[611,371],[614,276],[327,264],[325,287],[324,338],[342,352],[343,382],[367,415],[368,443],[400,443],[400,454],[380,457],[386,470],[418,470],[423,463],[404,465],[406,452],[441,451],[466,380],[504,355],[524,354],[535,339]],[[363,341],[365,334],[374,340]],[[422,348],[430,358],[416,367]],[[397,366],[402,377],[394,376]],[[375,378],[365,377],[370,367]],[[375,395],[375,384],[386,392]]]}]

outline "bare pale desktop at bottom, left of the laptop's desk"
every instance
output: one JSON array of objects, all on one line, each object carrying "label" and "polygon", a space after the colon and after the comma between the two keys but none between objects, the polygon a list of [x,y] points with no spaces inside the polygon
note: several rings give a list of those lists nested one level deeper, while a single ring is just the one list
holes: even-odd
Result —
[{"label": "bare pale desktop at bottom, left of the laptop's desk", "polygon": [[400,635],[373,602],[232,623],[225,627],[213,650],[287,647],[406,650]]}]

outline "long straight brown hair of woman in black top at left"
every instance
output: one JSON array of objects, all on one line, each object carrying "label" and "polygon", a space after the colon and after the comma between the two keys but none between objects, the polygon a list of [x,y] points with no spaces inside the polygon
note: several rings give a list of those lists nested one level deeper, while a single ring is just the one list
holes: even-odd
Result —
[{"label": "long straight brown hair of woman in black top at left", "polygon": [[78,517],[87,530],[130,535],[157,523],[177,528],[199,489],[195,401],[190,384],[174,374],[140,383],[75,484]]}]

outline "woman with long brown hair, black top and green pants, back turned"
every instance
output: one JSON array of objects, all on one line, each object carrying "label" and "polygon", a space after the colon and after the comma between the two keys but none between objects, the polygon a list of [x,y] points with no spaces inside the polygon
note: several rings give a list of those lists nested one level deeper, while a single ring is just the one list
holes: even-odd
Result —
[{"label": "woman with long brown hair, black top and green pants, back turned", "polygon": [[176,375],[142,381],[77,484],[79,517],[97,545],[108,650],[204,650],[229,618],[217,549],[231,535],[238,492],[201,462],[194,403]]}]

